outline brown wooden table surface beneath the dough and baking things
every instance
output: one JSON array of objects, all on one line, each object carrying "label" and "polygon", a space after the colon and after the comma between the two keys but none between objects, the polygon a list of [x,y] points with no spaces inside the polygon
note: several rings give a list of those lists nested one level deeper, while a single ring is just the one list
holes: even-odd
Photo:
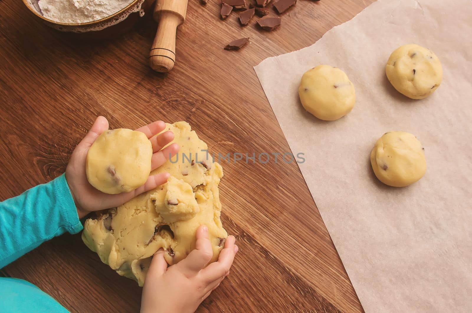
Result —
[{"label": "brown wooden table surface beneath the dough and baking things", "polygon": [[[109,41],[79,42],[0,1],[0,200],[64,172],[99,114],[111,128],[186,120],[211,152],[290,152],[253,66],[311,45],[373,0],[299,0],[274,32],[255,18],[219,19],[219,1],[190,0],[167,74],[147,64],[156,23]],[[272,13],[273,14],[273,13]],[[149,16],[149,15],[148,15]],[[240,51],[222,47],[250,37]],[[362,312],[296,163],[224,162],[221,219],[240,247],[231,275],[199,312]],[[1,227],[1,225],[0,225]],[[141,288],[63,235],[4,267],[71,312],[137,312]]]}]

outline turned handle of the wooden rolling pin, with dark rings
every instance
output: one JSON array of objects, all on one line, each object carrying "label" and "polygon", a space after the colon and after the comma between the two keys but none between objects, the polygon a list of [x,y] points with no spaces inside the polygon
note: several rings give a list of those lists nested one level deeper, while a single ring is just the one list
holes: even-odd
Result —
[{"label": "turned handle of the wooden rolling pin, with dark rings", "polygon": [[149,65],[154,71],[169,72],[174,67],[177,26],[182,22],[181,16],[174,12],[160,12],[156,37],[149,53]]}]

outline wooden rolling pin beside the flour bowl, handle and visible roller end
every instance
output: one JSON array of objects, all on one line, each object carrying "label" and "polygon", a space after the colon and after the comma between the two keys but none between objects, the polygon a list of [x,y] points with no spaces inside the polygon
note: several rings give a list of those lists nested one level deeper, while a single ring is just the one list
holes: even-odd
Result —
[{"label": "wooden rolling pin beside the flour bowl, handle and visible roller end", "polygon": [[154,71],[169,72],[176,61],[177,26],[184,23],[188,0],[157,0],[154,19],[158,22],[156,38],[149,53]]}]

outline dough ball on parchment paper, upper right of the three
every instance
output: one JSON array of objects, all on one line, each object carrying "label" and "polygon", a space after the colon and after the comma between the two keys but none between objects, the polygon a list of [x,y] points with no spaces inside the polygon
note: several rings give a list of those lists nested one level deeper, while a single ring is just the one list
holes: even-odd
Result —
[{"label": "dough ball on parchment paper, upper right of the three", "polygon": [[419,45],[405,45],[393,51],[385,72],[392,86],[412,99],[426,98],[442,80],[438,57],[430,49]]}]

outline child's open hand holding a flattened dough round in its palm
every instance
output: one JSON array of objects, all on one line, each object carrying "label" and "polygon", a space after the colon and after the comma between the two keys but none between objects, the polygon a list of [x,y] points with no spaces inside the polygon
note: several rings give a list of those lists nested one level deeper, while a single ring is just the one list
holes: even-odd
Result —
[{"label": "child's open hand holding a flattened dough round in its palm", "polygon": [[[171,131],[166,131],[159,136],[154,136],[165,127],[166,124],[158,120],[136,129],[143,132],[150,138],[149,140],[151,140],[152,152],[154,152],[151,159],[151,169],[157,169],[169,160],[169,155],[173,156],[178,152],[178,144],[171,144],[162,149],[163,146],[169,144],[169,142],[174,139],[174,134]],[[169,178],[169,173],[150,176],[144,185],[129,193],[107,194],[93,188],[93,186],[89,184],[87,175],[85,174],[85,158],[95,139],[106,130],[108,130],[108,120],[103,116],[97,117],[90,131],[84,139],[77,144],[76,149],[72,152],[69,164],[67,164],[66,180],[74,202],[76,203],[79,218],[84,217],[91,211],[117,207],[140,193],[144,193],[164,184],[167,182],[167,178]]]}]

